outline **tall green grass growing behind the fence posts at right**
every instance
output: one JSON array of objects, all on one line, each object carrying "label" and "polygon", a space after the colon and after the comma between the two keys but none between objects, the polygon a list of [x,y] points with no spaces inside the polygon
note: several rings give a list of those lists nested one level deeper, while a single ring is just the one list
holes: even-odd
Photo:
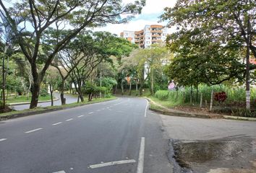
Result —
[{"label": "tall green grass growing behind the fence posts at right", "polygon": [[[218,86],[206,86],[200,85],[197,89],[192,89],[191,87],[180,88],[176,91],[168,91],[168,90],[159,90],[155,92],[155,97],[162,101],[171,101],[177,104],[186,104],[190,103],[192,99],[193,104],[200,104],[200,97],[202,94],[203,103],[207,100],[210,103],[210,95],[211,92],[226,92],[227,99],[223,103],[223,105],[244,105],[246,100],[246,94],[244,87],[231,87],[225,85]],[[192,94],[191,94],[192,93]],[[256,99],[256,89],[251,90],[251,99],[252,103],[255,102]],[[215,102],[215,104],[218,104]]]}]

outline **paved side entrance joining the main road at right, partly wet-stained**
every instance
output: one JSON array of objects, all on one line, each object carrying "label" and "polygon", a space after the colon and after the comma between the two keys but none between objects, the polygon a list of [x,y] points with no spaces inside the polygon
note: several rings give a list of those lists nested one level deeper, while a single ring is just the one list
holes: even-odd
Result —
[{"label": "paved side entrance joining the main road at right, partly wet-stained", "polygon": [[181,166],[174,164],[174,172],[256,173],[256,122],[161,118],[174,151],[170,158]]}]

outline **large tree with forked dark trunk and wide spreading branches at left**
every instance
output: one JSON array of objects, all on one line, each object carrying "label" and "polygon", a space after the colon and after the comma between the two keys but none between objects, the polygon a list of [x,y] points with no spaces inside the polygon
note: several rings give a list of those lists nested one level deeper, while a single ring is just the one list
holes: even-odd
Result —
[{"label": "large tree with forked dark trunk and wide spreading branches at left", "polygon": [[[131,17],[121,18],[120,14],[140,13],[144,5],[145,0],[127,5],[123,5],[119,0],[28,0],[17,1],[7,8],[4,1],[0,0],[1,14],[12,27],[17,43],[32,69],[33,88],[30,108],[38,104],[40,84],[48,66],[59,50],[63,49],[73,37],[85,27],[127,22]],[[23,22],[17,23],[17,19],[22,19]],[[72,27],[72,32],[60,37],[51,52],[40,59],[42,37],[51,25],[55,25],[59,30],[69,25]],[[38,68],[38,61],[43,61],[43,68]]]}]

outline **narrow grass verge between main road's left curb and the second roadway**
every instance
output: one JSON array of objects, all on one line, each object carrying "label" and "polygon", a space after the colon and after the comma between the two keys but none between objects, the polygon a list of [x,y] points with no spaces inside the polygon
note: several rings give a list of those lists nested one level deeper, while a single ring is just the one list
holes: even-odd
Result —
[{"label": "narrow grass verge between main road's left curb and the second roadway", "polygon": [[51,111],[56,111],[56,110],[65,110],[65,109],[72,108],[72,107],[80,107],[83,105],[90,105],[90,104],[98,103],[98,102],[106,102],[106,101],[110,101],[113,99],[116,99],[116,97],[93,99],[91,102],[85,101],[85,102],[71,103],[71,104],[61,105],[61,106],[36,107],[35,109],[31,109],[31,110],[28,109],[28,110],[18,110],[18,111],[6,112],[6,113],[0,114],[0,120],[14,118],[14,117],[23,117],[23,116],[27,116],[27,115],[35,115],[35,114],[51,112]]}]

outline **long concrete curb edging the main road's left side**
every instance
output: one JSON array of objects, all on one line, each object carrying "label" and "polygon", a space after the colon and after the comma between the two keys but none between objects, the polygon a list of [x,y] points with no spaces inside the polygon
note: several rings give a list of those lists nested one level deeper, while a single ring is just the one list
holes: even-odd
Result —
[{"label": "long concrete curb edging the main road's left side", "polygon": [[[115,99],[118,99],[118,98],[115,98]],[[102,102],[110,102],[115,99],[105,100]],[[9,120],[9,119],[17,118],[17,117],[26,117],[29,115],[38,115],[38,114],[43,114],[43,113],[48,113],[48,112],[54,112],[57,110],[67,110],[67,109],[74,108],[74,107],[82,107],[85,105],[91,105],[91,104],[96,104],[96,103],[101,103],[101,102],[86,103],[84,105],[72,105],[72,106],[67,106],[67,107],[55,107],[55,108],[42,107],[45,110],[34,110],[34,111],[28,110],[27,112],[17,113],[17,114],[13,114],[13,115],[0,116],[0,121]]]}]

